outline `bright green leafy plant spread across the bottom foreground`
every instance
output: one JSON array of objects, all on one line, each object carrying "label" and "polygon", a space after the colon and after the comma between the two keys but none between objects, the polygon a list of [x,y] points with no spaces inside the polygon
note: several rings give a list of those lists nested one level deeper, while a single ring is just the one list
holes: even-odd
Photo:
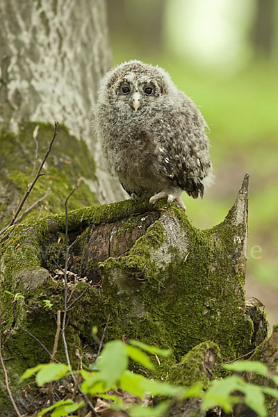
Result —
[{"label": "bright green leafy plant spread across the bottom foreground", "polygon": [[[117,340],[106,343],[101,356],[95,363],[92,363],[86,369],[76,371],[83,377],[81,390],[86,395],[109,400],[112,404],[111,407],[124,409],[131,417],[160,417],[163,416],[174,399],[186,400],[186,398],[193,397],[202,399],[202,410],[204,411],[220,406],[226,413],[229,413],[234,404],[245,402],[259,417],[266,417],[265,394],[278,399],[277,389],[248,384],[238,375],[215,379],[204,391],[202,384],[195,384],[188,388],[168,382],[150,380],[138,373],[132,373],[128,368],[129,359],[140,363],[145,368],[152,369],[154,367],[146,352],[164,356],[170,354],[169,350],[161,350],[156,346],[145,345],[145,343],[139,341],[129,341],[129,344]],[[278,375],[270,376],[268,367],[261,362],[236,361],[225,364],[223,367],[231,371],[254,372],[263,377],[268,377],[275,384],[278,384]],[[26,370],[22,375],[22,380],[31,377],[34,373],[38,386],[42,386],[47,382],[57,381],[66,375],[70,375],[70,367],[62,363],[40,364],[35,368]],[[161,395],[167,399],[161,401],[156,407],[125,404],[117,395],[108,395],[108,391],[116,391],[117,389],[136,395],[141,399],[146,394],[152,397]],[[243,395],[234,395],[235,392]],[[59,401],[40,411],[38,417],[50,411],[52,411],[51,417],[67,416],[68,413],[76,411],[82,404],[83,402],[76,404],[69,399]]]}]

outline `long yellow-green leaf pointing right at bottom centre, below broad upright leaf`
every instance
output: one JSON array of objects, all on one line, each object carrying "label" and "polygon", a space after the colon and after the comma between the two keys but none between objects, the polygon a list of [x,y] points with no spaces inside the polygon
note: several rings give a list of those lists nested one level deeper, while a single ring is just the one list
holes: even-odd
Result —
[{"label": "long yellow-green leaf pointing right at bottom centre, below broad upright leaf", "polygon": [[120,388],[134,395],[138,395],[140,398],[143,398],[145,393],[181,398],[185,393],[185,389],[181,386],[174,386],[167,382],[150,381],[142,375],[131,373],[129,370],[126,370],[124,375],[122,375]]}]

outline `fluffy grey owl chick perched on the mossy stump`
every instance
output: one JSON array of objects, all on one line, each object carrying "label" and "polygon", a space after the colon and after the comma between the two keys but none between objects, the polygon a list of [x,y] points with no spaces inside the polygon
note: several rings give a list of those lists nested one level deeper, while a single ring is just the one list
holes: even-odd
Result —
[{"label": "fluffy grey owl chick perched on the mossy stump", "polygon": [[162,68],[131,60],[109,71],[95,120],[106,167],[132,197],[185,210],[181,192],[202,197],[212,182],[206,122]]}]

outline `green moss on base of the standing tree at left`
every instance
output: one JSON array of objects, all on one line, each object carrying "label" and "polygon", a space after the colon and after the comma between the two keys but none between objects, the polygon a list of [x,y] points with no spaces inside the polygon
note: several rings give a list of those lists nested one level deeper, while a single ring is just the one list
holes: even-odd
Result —
[{"label": "green moss on base of the standing tree at left", "polygon": [[[35,161],[35,141],[33,130],[40,126],[38,131],[38,161],[33,171]],[[38,170],[42,156],[44,156],[54,133],[51,124],[31,123],[22,124],[17,135],[2,131],[0,134],[0,181],[6,188],[3,193],[3,203],[0,206],[0,229],[10,220],[11,206],[16,206],[28,188],[28,183]],[[13,158],[11,158],[13,155]],[[33,175],[32,174],[33,171]],[[59,125],[58,136],[42,170],[46,174],[40,177],[28,197],[24,208],[38,201],[49,188],[49,196],[44,199],[42,215],[64,211],[64,202],[76,183],[78,189],[68,202],[68,208],[78,208],[97,204],[97,196],[87,185],[88,181],[95,179],[95,161],[93,160],[83,140],[77,140],[70,135],[65,126]],[[40,206],[38,205],[24,217],[24,222],[38,218]]]}]

